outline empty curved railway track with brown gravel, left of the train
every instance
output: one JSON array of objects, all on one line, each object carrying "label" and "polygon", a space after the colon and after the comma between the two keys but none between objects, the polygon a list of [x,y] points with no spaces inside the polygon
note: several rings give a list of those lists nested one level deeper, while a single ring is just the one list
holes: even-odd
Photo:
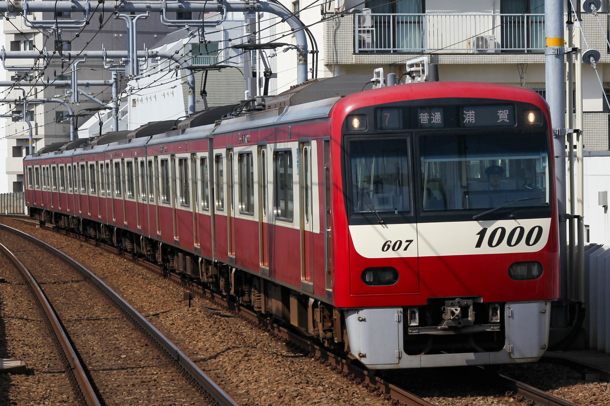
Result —
[{"label": "empty curved railway track with brown gravel, left of the train", "polygon": [[13,262],[21,266],[51,320],[66,369],[73,371],[68,379],[78,382],[75,399],[84,399],[87,405],[238,405],[152,324],[70,257],[7,226],[0,225],[0,239],[8,246],[3,246],[5,251],[13,251]]}]

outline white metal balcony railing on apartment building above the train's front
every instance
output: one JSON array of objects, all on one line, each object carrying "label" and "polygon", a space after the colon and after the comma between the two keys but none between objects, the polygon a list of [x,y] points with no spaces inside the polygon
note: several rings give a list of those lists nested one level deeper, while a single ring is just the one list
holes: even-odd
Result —
[{"label": "white metal balcony railing on apartment building above the train's front", "polygon": [[544,14],[354,15],[354,50],[363,52],[544,52]]}]

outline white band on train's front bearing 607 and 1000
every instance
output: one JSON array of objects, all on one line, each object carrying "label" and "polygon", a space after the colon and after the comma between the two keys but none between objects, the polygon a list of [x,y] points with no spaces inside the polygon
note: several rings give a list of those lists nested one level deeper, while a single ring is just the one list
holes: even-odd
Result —
[{"label": "white band on train's front bearing 607 and 1000", "polygon": [[548,242],[551,219],[350,226],[367,258],[533,253]]}]

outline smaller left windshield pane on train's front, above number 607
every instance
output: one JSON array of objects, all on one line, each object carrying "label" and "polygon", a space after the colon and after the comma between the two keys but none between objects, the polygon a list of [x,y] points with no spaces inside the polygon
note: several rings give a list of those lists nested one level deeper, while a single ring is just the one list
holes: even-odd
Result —
[{"label": "smaller left windshield pane on train's front, above number 607", "polygon": [[409,139],[353,139],[348,148],[352,213],[410,211]]}]

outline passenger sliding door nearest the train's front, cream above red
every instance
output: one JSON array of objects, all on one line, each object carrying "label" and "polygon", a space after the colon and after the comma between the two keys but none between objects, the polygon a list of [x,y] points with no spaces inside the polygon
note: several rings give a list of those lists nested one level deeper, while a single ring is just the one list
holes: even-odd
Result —
[{"label": "passenger sliding door nearest the train's front, cream above red", "polygon": [[297,170],[301,226],[301,287],[314,290],[314,203],[311,142],[299,142]]}]

